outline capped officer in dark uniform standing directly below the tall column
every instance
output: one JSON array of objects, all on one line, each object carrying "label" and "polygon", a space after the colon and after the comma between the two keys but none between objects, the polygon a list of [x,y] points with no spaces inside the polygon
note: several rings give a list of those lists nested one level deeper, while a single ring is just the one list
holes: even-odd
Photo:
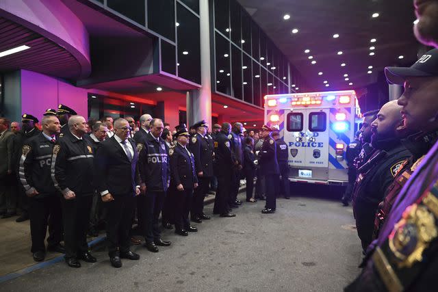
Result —
[{"label": "capped officer in dark uniform standing directly below the tall column", "polygon": [[211,145],[209,137],[207,137],[208,124],[205,120],[197,122],[193,127],[196,129],[196,134],[190,138],[188,149],[194,156],[198,187],[194,189],[190,217],[193,222],[201,223],[201,220],[210,219],[209,216],[204,214],[203,209],[205,194],[209,191],[211,177],[213,176],[214,145]]}]

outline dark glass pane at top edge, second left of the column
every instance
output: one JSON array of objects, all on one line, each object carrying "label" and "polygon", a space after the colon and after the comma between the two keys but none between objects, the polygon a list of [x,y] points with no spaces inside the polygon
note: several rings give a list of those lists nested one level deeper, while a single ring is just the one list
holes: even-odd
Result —
[{"label": "dark glass pane at top edge, second left of the column", "polygon": [[[127,5],[131,1],[123,1],[123,3]],[[175,41],[175,25],[175,1],[148,1],[149,29],[169,40]]]}]

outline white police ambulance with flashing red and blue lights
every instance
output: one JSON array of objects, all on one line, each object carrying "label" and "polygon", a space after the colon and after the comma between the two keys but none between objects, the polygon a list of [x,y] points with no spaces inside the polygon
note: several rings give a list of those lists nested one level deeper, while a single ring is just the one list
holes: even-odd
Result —
[{"label": "white police ambulance with flashing red and blue lights", "polygon": [[289,181],[345,185],[361,110],[353,90],[267,95],[265,123],[289,147]]}]

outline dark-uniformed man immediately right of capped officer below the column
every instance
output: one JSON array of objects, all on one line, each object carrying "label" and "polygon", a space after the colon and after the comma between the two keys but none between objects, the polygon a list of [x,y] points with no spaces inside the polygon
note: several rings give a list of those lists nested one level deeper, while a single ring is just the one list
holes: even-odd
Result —
[{"label": "dark-uniformed man immediately right of capped officer below the column", "polygon": [[231,133],[231,124],[224,122],[222,124],[222,131],[216,135],[214,142],[214,151],[216,160],[214,165],[214,172],[218,177],[218,191],[214,198],[214,214],[220,214],[220,217],[235,217],[235,214],[230,213],[229,197],[231,180],[233,179],[233,168],[238,164],[233,152],[231,151],[231,144],[229,135]]}]

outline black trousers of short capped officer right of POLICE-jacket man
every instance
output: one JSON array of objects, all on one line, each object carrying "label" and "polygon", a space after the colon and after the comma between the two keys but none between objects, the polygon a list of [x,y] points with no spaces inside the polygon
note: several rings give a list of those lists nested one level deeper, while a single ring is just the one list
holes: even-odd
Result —
[{"label": "black trousers of short capped officer right of POLICE-jacket man", "polygon": [[172,198],[174,203],[175,229],[187,230],[190,226],[189,212],[192,207],[193,189],[184,189],[183,191],[172,190]]}]

